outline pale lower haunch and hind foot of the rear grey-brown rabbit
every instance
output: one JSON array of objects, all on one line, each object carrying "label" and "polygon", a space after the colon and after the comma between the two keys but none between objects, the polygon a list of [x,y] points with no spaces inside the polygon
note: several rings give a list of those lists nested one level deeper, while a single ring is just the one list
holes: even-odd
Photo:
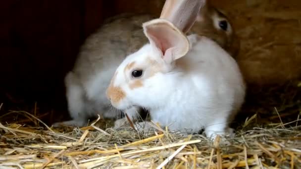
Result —
[{"label": "pale lower haunch and hind foot of the rear grey-brown rabbit", "polygon": [[63,124],[82,127],[87,125],[89,118],[96,117],[97,114],[108,118],[117,116],[117,111],[109,107],[110,103],[104,95],[106,86],[109,84],[109,76],[112,77],[113,74],[113,69],[99,72],[93,79],[81,84],[74,73],[69,72],[65,78],[65,84],[68,111],[72,120],[55,123],[53,126]]}]

